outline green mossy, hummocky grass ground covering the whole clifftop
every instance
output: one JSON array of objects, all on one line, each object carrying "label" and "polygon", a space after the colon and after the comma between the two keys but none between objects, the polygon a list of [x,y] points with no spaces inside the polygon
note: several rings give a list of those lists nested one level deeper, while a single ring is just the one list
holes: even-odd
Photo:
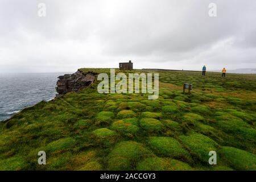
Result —
[{"label": "green mossy, hummocky grass ground covering the whole clifftop", "polygon": [[[99,94],[96,81],[1,122],[0,170],[255,170],[256,76],[158,73],[158,100]],[[41,150],[46,165],[38,165]]]}]

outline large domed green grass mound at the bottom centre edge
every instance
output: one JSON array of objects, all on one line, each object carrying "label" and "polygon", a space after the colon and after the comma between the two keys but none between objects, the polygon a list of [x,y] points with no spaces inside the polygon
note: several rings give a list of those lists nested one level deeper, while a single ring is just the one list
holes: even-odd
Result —
[{"label": "large domed green grass mound at the bottom centre edge", "polygon": [[152,156],[152,152],[134,141],[119,142],[110,152],[108,158],[109,170],[132,170],[137,161]]}]

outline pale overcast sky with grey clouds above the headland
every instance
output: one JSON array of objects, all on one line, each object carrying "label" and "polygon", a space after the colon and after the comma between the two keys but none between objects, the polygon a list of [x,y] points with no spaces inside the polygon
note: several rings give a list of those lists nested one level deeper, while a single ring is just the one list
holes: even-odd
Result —
[{"label": "pale overcast sky with grey clouds above the headland", "polygon": [[[46,16],[38,16],[45,3]],[[208,15],[216,3],[217,17]],[[0,73],[256,68],[255,0],[1,0]]]}]

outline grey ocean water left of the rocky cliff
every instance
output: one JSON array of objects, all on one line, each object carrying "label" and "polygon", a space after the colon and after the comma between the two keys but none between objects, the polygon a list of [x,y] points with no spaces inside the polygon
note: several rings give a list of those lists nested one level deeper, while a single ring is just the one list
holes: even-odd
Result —
[{"label": "grey ocean water left of the rocky cliff", "polygon": [[25,107],[54,98],[60,75],[64,73],[0,73],[0,121]]}]

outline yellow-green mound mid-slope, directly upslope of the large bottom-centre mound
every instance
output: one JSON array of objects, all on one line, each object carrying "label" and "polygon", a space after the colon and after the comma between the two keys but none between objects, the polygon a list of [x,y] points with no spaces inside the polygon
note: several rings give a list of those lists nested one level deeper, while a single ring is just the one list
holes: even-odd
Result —
[{"label": "yellow-green mound mid-slope, directly upslope of the large bottom-centre mound", "polygon": [[122,120],[116,121],[112,124],[113,130],[119,131],[120,133],[131,133],[135,134],[139,131],[139,127],[129,122]]}]

